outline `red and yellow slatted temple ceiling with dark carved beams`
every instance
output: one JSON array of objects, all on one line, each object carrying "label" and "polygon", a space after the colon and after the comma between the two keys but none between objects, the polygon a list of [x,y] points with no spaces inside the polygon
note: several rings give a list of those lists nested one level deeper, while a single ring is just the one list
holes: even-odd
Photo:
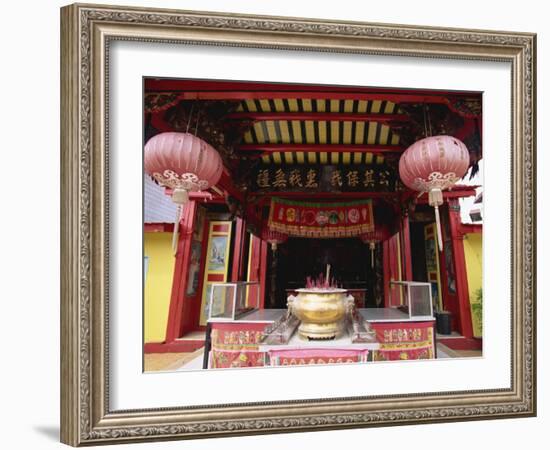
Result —
[{"label": "red and yellow slatted temple ceiling with dark carved beams", "polygon": [[[144,90],[145,141],[164,131],[189,131],[206,140],[227,168],[222,190],[239,201],[259,194],[256,177],[265,169],[303,177],[307,167],[326,174],[323,166],[348,168],[348,176],[357,167],[396,173],[401,153],[427,135],[461,139],[474,170],[482,157],[476,92],[155,78],[145,80]],[[301,180],[294,185],[298,192],[285,195],[306,195]],[[315,195],[374,196],[364,186],[347,192],[340,184]],[[286,191],[292,187],[285,185]]]}]

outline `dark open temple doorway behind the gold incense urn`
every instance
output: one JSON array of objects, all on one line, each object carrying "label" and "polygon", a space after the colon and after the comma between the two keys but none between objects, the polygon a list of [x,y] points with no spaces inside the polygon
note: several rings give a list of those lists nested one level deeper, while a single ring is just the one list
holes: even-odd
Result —
[{"label": "dark open temple doorway behind the gold incense urn", "polygon": [[271,258],[266,307],[286,308],[288,292],[304,287],[307,277],[324,273],[327,264],[331,266],[331,276],[346,289],[356,290],[355,296],[362,304],[383,306],[380,246],[374,251],[372,264],[368,244],[358,238],[290,238]]}]

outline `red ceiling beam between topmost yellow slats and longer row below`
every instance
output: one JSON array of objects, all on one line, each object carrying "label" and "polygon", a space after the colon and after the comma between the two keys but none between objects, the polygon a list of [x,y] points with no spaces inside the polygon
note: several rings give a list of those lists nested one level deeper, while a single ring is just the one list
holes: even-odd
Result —
[{"label": "red ceiling beam between topmost yellow slats and longer row below", "polygon": [[287,112],[237,112],[228,115],[229,119],[265,120],[313,120],[350,122],[408,122],[405,114],[353,114],[353,113],[287,113]]}]

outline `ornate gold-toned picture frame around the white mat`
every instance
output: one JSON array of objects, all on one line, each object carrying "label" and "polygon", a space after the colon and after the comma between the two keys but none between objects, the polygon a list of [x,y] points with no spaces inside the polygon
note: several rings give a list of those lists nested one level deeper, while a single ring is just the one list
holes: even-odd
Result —
[{"label": "ornate gold-toned picture frame around the white mat", "polygon": [[[115,41],[509,63],[510,386],[113,410],[109,400],[108,88],[109,49]],[[536,36],[529,33],[95,5],[62,8],[62,442],[79,446],[534,416],[535,70]]]}]

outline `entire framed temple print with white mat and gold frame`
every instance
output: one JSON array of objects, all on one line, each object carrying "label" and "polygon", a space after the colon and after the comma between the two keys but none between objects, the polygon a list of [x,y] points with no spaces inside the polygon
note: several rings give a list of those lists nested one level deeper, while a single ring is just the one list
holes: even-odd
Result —
[{"label": "entire framed temple print with white mat and gold frame", "polygon": [[61,18],[63,442],[536,413],[535,35]]}]

